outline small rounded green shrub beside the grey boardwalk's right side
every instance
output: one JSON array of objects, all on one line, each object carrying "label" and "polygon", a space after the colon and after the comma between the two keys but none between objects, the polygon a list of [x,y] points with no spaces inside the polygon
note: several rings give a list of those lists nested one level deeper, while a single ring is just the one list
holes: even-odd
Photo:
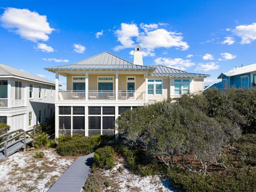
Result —
[{"label": "small rounded green shrub beside the grey boardwalk's right side", "polygon": [[94,163],[93,166],[111,169],[115,166],[114,162],[115,151],[112,147],[106,146],[99,148],[94,153]]}]

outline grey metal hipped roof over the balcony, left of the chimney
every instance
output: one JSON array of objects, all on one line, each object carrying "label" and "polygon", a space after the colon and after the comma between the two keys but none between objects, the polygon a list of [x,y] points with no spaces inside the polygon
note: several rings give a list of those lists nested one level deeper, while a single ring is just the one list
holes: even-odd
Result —
[{"label": "grey metal hipped roof over the balcony, left of the chimney", "polygon": [[45,70],[58,70],[58,69],[155,69],[149,66],[134,65],[116,55],[103,52],[93,57],[84,59],[73,63],[72,65],[62,65],[55,67],[47,67]]}]

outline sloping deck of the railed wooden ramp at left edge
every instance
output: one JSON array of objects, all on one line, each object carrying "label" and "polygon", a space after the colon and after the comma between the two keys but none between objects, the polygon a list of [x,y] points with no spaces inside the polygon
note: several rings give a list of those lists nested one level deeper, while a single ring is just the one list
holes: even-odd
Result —
[{"label": "sloping deck of the railed wooden ramp at left edge", "polygon": [[[33,142],[33,139],[31,138],[26,139],[26,144],[29,144],[31,142]],[[18,151],[23,147],[24,147],[24,139],[20,139],[12,143],[9,143],[7,145],[7,157],[14,154],[16,151]],[[4,147],[3,147],[0,149],[0,162],[3,161],[4,159],[5,159],[5,156],[4,156]]]}]

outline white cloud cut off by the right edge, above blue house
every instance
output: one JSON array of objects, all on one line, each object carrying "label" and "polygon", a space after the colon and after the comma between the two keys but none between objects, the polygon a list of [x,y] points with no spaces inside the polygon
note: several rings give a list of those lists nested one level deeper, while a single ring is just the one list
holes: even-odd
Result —
[{"label": "white cloud cut off by the right edge, above blue house", "polygon": [[241,44],[249,44],[256,39],[256,23],[237,26],[233,32],[242,38]]}]

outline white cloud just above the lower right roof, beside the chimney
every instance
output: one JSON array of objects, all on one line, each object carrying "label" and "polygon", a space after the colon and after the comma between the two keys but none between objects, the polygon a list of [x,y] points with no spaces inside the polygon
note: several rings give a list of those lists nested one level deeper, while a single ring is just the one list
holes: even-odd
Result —
[{"label": "white cloud just above the lower right roof, beside the chimney", "polygon": [[171,59],[171,58],[159,57],[159,58],[156,58],[154,61],[156,64],[170,66],[172,68],[180,69],[180,70],[185,70],[195,65],[195,63],[191,62],[191,60],[188,60],[188,59],[183,60],[181,58]]}]

